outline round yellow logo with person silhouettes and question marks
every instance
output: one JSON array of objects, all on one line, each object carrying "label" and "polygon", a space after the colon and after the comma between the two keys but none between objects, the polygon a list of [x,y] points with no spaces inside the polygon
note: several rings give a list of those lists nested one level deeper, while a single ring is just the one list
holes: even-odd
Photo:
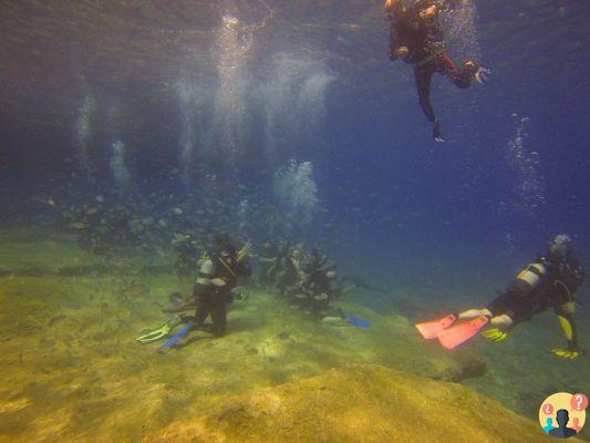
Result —
[{"label": "round yellow logo with person silhouettes and question marks", "polygon": [[549,395],[539,408],[542,430],[557,439],[576,435],[586,423],[588,398],[582,393],[558,392]]}]

